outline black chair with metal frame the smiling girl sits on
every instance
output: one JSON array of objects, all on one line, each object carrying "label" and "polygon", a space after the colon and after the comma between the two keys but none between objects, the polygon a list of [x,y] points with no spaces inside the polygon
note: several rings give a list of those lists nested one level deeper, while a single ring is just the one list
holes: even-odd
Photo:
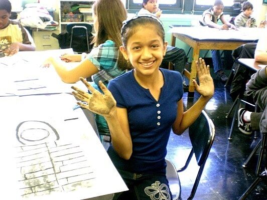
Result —
[{"label": "black chair with metal frame the smiling girl sits on", "polygon": [[187,199],[194,198],[197,186],[199,184],[206,160],[208,158],[214,140],[214,136],[215,128],[213,122],[205,113],[205,111],[202,111],[197,120],[189,127],[189,137],[192,143],[192,149],[186,160],[185,165],[177,170],[172,162],[166,160],[166,175],[174,200],[181,199],[181,183],[177,172],[183,171],[187,168],[191,161],[191,158],[193,157],[193,154],[195,154],[199,170],[191,194]]}]

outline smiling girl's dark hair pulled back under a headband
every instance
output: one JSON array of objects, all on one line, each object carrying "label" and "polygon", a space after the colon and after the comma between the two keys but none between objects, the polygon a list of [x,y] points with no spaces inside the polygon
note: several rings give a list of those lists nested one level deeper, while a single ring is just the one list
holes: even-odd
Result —
[{"label": "smiling girl's dark hair pulled back under a headband", "polygon": [[139,27],[150,25],[155,27],[157,33],[162,38],[162,41],[164,43],[165,31],[161,21],[152,15],[139,15],[123,23],[121,29],[121,38],[123,46],[127,46],[128,39],[138,31]]}]

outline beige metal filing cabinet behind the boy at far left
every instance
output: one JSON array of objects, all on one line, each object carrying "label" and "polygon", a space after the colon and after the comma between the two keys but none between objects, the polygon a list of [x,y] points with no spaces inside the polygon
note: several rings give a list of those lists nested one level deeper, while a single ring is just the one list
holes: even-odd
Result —
[{"label": "beige metal filing cabinet behind the boy at far left", "polygon": [[52,36],[52,33],[59,34],[59,30],[34,30],[33,39],[36,45],[36,51],[45,51],[59,49],[58,40]]}]

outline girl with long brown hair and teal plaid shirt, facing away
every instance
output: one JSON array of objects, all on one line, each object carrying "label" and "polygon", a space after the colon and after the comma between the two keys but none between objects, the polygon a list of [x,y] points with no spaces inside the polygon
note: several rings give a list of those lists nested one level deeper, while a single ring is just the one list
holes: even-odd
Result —
[{"label": "girl with long brown hair and teal plaid shirt, facing away", "polygon": [[[80,77],[93,77],[92,86],[98,90],[98,82],[101,80],[107,85],[113,78],[124,74],[131,69],[119,47],[122,45],[120,30],[122,22],[126,20],[127,12],[121,0],[98,0],[93,4],[93,21],[96,32],[94,38],[95,48],[81,59],[81,55],[64,55],[61,58],[50,57],[45,62],[52,64],[65,83],[75,83]],[[101,24],[100,24],[101,23]],[[70,68],[62,60],[79,62]],[[46,65],[47,66],[47,65]],[[95,116],[98,132],[100,135],[110,134],[104,118]]]}]

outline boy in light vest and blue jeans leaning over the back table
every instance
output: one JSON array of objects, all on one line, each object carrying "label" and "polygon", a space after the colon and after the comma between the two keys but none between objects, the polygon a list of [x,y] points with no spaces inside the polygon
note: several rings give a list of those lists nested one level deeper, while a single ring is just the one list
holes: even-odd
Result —
[{"label": "boy in light vest and blue jeans leaning over the back table", "polygon": [[[210,28],[216,28],[220,30],[236,29],[233,24],[229,23],[225,19],[224,14],[223,14],[223,8],[224,6],[223,6],[222,1],[216,0],[213,4],[213,7],[204,11],[204,13],[202,14],[202,20],[199,21],[199,23],[202,26],[208,26]],[[217,24],[218,20],[221,20],[222,25]],[[232,59],[231,51],[224,51],[224,53],[225,53],[224,57],[228,57],[227,59]],[[224,71],[223,71],[220,51],[211,50],[211,54],[212,54],[214,72],[218,75],[218,77],[220,78],[222,82],[226,82],[228,80],[228,77],[224,74]],[[226,54],[227,55],[230,54],[230,55],[226,56]]]}]

